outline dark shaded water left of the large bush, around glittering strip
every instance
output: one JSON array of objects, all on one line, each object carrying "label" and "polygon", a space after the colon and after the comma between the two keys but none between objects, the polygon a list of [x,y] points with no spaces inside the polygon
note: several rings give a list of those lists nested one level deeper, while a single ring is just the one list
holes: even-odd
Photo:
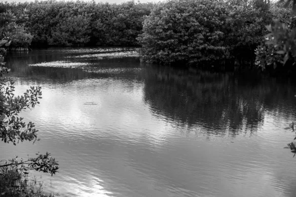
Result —
[{"label": "dark shaded water left of the large bush, around glittering strip", "polygon": [[[7,57],[6,66],[11,69],[10,75],[13,77],[26,77],[38,82],[49,80],[52,83],[65,83],[85,78],[135,78],[135,70],[139,66],[139,60],[135,58],[76,60],[68,57],[68,55],[66,52],[56,52],[54,50],[13,53]],[[51,62],[62,64],[65,61],[77,63],[78,66],[77,68],[46,65],[28,66]],[[79,66],[80,63],[82,66]],[[87,66],[84,66],[84,64]]]}]

